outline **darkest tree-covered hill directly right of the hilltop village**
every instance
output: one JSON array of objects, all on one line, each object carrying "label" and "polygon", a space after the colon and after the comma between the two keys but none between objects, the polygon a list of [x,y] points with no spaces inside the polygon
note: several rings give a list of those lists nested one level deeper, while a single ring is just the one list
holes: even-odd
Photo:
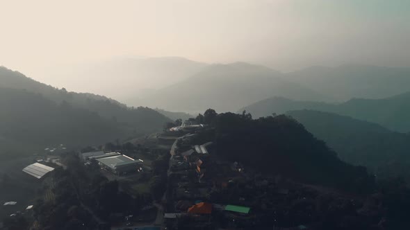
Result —
[{"label": "darkest tree-covered hill directly right of the hilltop village", "polygon": [[302,182],[363,192],[373,179],[366,168],[338,159],[336,152],[285,115],[252,120],[240,114],[219,114],[215,121],[218,154],[272,175]]}]

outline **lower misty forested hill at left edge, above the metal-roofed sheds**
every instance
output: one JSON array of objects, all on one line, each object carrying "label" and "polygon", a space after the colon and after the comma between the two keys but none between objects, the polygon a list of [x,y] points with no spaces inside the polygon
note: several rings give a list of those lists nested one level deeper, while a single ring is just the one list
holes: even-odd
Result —
[{"label": "lower misty forested hill at left edge, above the metal-roofed sheds", "polygon": [[68,103],[57,104],[24,89],[0,88],[0,154],[59,145],[97,145],[133,136],[127,127]]}]

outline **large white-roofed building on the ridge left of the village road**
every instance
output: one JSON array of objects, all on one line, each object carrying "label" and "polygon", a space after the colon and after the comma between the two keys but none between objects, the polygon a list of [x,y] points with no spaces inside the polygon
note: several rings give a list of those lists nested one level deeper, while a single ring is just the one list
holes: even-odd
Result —
[{"label": "large white-roofed building on the ridge left of the village road", "polygon": [[142,160],[132,159],[126,155],[115,155],[111,157],[102,157],[95,159],[101,168],[104,168],[117,175],[125,174],[126,172],[137,172],[142,166]]}]

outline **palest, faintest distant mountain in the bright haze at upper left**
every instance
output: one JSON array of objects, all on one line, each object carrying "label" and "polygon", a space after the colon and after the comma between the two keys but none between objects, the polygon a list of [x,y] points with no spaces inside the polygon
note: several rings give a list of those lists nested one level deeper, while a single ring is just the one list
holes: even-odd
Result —
[{"label": "palest, faintest distant mountain in the bright haze at upper left", "polygon": [[117,57],[45,69],[44,74],[49,76],[50,84],[126,102],[129,98],[148,96],[150,89],[161,89],[189,78],[205,66],[183,57]]}]

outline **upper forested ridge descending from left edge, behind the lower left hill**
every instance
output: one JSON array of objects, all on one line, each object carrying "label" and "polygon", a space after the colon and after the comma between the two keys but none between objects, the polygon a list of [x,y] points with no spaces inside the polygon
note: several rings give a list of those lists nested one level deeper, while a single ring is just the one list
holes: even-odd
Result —
[{"label": "upper forested ridge descending from left edge, behind the lower left hill", "polygon": [[[129,125],[138,133],[155,132],[161,130],[169,118],[154,109],[147,107],[129,108],[116,100],[94,94],[78,94],[56,89],[49,85],[27,78],[22,73],[0,67],[0,87],[11,89],[26,89],[44,98],[53,100],[57,104],[68,103],[72,107],[96,112],[100,116]],[[113,85],[113,90],[115,85]]]}]

